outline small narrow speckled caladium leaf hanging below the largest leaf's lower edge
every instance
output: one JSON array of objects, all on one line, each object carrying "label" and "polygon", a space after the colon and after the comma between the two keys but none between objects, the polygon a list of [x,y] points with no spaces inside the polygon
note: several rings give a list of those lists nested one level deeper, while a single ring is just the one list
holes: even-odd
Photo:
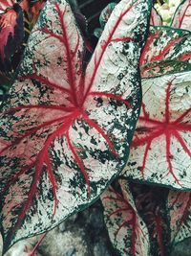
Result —
[{"label": "small narrow speckled caladium leaf hanging below the largest leaf's lower edge", "polygon": [[112,187],[101,196],[110,240],[121,256],[147,256],[150,244],[147,227],[138,215],[126,180],[119,180],[122,194]]}]

